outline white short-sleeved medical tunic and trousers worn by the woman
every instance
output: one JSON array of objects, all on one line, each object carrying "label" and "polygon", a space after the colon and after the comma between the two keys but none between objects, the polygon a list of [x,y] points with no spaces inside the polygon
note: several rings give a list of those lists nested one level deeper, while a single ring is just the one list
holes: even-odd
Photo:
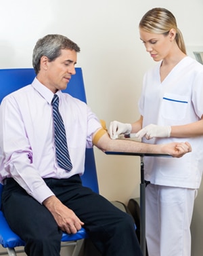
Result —
[{"label": "white short-sleeved medical tunic and trousers worn by the woman", "polygon": [[[139,111],[143,127],[148,124],[179,126],[197,122],[203,114],[203,65],[183,58],[160,81],[160,65],[143,78]],[[146,235],[150,256],[189,256],[189,225],[196,189],[203,169],[203,136],[143,139],[160,144],[188,141],[191,153],[182,158],[145,157]]]}]

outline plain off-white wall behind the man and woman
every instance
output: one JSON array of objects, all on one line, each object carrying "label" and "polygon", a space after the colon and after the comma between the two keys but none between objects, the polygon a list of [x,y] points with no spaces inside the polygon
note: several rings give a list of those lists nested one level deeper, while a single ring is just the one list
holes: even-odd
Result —
[{"label": "plain off-white wall behind the man and woman", "polygon": [[[37,39],[66,35],[81,47],[78,67],[93,111],[107,126],[112,120],[133,122],[143,73],[154,65],[138,31],[141,16],[152,7],[175,14],[186,45],[203,45],[202,0],[0,0],[0,68],[32,67]],[[101,194],[122,202],[139,196],[139,158],[98,150],[95,156]]]}]

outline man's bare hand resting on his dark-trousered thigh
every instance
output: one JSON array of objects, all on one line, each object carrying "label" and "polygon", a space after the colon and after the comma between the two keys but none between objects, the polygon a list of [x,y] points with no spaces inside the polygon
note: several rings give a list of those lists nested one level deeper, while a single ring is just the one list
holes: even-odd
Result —
[{"label": "man's bare hand resting on his dark-trousered thigh", "polygon": [[43,205],[51,212],[58,227],[68,234],[75,234],[84,225],[74,212],[62,204],[55,196],[50,196],[44,200]]}]

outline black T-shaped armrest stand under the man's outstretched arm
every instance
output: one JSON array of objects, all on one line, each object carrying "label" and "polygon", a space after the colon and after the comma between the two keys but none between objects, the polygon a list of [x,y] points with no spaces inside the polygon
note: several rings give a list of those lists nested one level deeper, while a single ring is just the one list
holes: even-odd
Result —
[{"label": "black T-shaped armrest stand under the man's outstretched arm", "polygon": [[153,157],[164,157],[171,158],[172,156],[160,153],[133,153],[133,152],[114,152],[114,151],[105,151],[107,155],[118,155],[118,156],[139,156],[140,157],[140,175],[141,175],[141,183],[140,183],[140,246],[143,256],[145,256],[145,177],[144,177],[144,156],[153,156]]}]

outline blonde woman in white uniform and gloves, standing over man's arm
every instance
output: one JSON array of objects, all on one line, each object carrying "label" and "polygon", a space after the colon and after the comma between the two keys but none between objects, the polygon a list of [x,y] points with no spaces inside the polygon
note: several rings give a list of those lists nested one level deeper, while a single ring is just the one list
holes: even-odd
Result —
[{"label": "blonde woman in white uniform and gloves, standing over man's arm", "polygon": [[[137,132],[148,143],[188,141],[181,159],[146,158],[146,239],[150,256],[189,256],[189,226],[203,166],[203,66],[187,56],[171,12],[148,11],[139,22],[141,41],[158,62],[143,77],[140,119],[111,122],[112,139]],[[138,132],[139,131],[139,132]]]}]

